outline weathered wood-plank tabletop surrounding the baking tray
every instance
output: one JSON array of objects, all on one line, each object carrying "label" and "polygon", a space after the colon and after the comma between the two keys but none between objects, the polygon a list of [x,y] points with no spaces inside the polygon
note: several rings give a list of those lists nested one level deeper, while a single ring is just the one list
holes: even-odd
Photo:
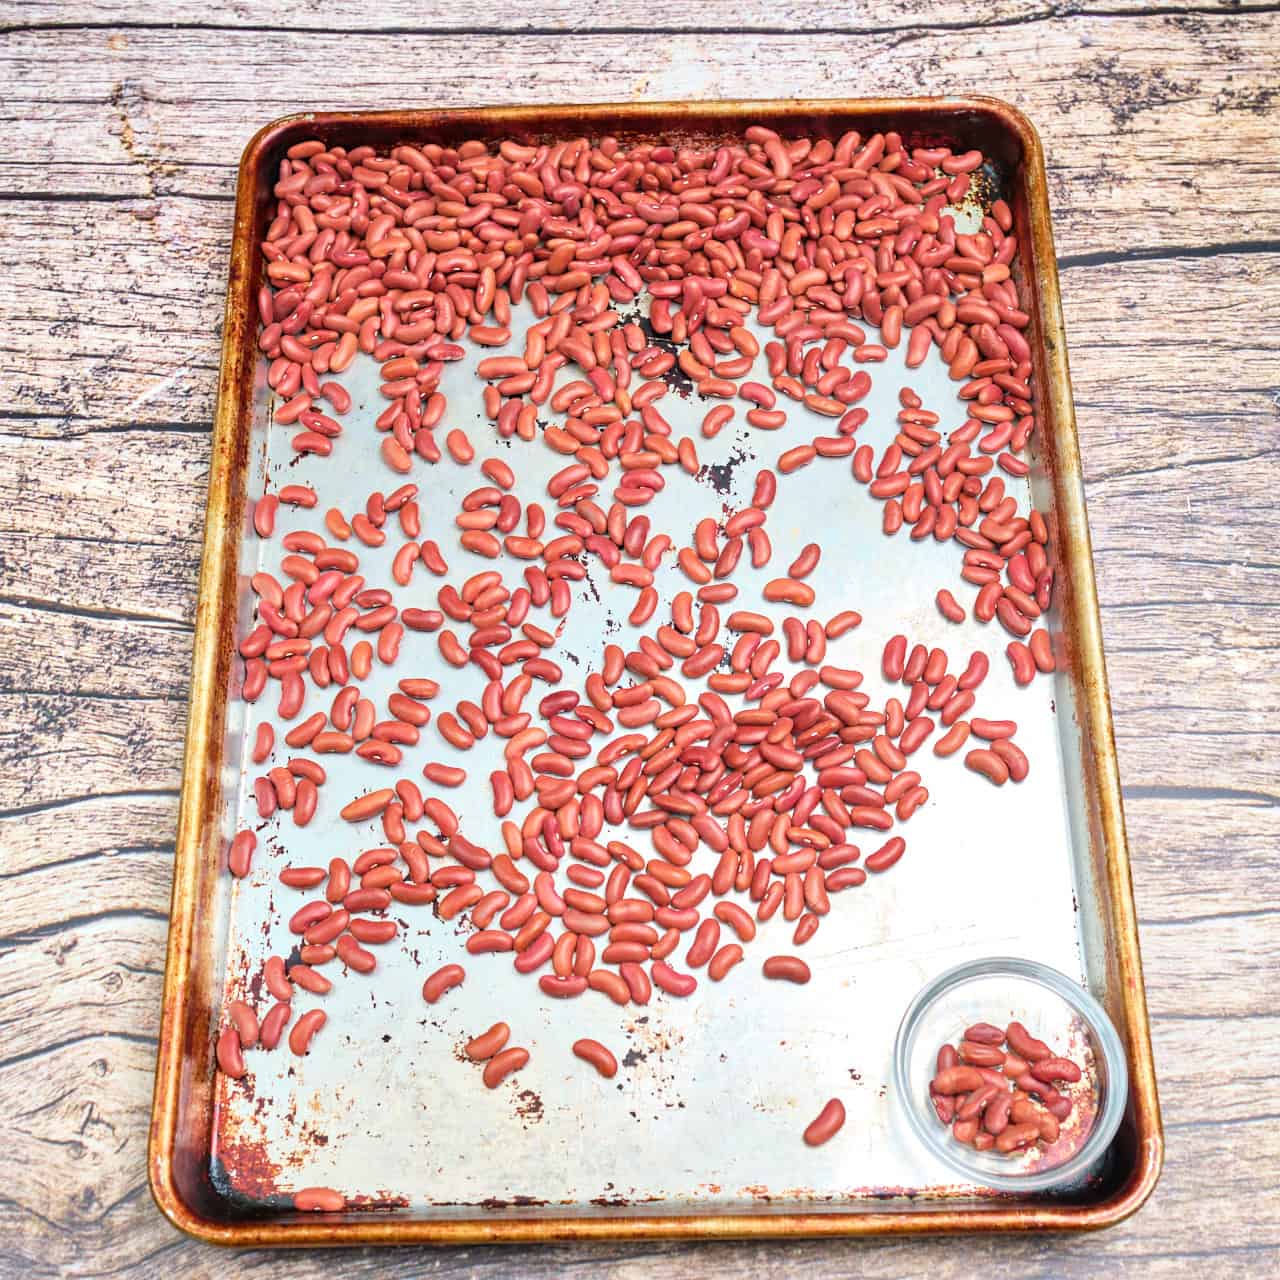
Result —
[{"label": "weathered wood-plank tabletop surrounding the baking tray", "polygon": [[[0,1274],[1275,1275],[1276,6],[476,12],[0,3]],[[1050,159],[1169,1139],[1152,1202],[1085,1239],[518,1262],[180,1236],[146,1126],[241,147],[319,106],[946,90],[1018,104]]]}]

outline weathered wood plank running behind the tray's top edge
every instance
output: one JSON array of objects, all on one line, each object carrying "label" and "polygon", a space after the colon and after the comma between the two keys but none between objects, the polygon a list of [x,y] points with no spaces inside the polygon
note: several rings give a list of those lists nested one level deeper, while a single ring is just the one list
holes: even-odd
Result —
[{"label": "weathered wood plank running behind the tray's top edge", "polygon": [[[887,6],[876,12],[856,38],[721,33],[710,22],[713,45],[704,35],[652,46],[626,35],[480,35],[466,58],[449,35],[18,29],[0,49],[0,77],[15,86],[0,120],[20,151],[0,163],[0,191],[225,197],[257,125],[334,104],[328,86],[280,68],[378,68],[344,87],[348,108],[385,106],[390,83],[430,84],[422,100],[435,106],[536,102],[548,84],[559,101],[733,97],[763,83],[781,97],[980,86],[1042,129],[1060,251],[1276,238],[1266,197],[1274,13],[902,31]],[[74,88],[59,92],[54,68],[69,61]],[[1221,137],[1231,138],[1231,164],[1188,164]],[[49,164],[68,152],[74,164]]]}]

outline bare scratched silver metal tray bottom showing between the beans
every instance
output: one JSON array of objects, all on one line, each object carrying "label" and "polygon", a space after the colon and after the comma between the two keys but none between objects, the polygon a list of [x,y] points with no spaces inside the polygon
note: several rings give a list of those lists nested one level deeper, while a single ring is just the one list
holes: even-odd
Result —
[{"label": "bare scratched silver metal tray bottom showing between the beans", "polygon": [[[522,326],[530,319],[521,312],[512,349],[522,349]],[[758,333],[763,346],[769,334]],[[925,407],[942,415],[943,428],[964,419],[956,384],[941,361],[931,357],[924,367],[908,371],[904,351],[905,343],[887,362],[865,366],[873,380],[863,402],[870,420],[859,439],[876,445],[877,456],[893,435],[902,385],[916,389]],[[547,479],[566,461],[540,442],[498,440],[479,408],[481,384],[472,370],[483,355],[468,349],[465,361],[448,367],[442,389],[449,411],[436,433],[443,439],[448,428],[465,428],[476,445],[476,461],[462,467],[445,457],[411,476],[422,490],[422,536],[439,541],[451,566],[448,580],[456,584],[494,567],[457,547],[452,524],[461,497],[485,483],[480,461],[504,458],[517,474],[522,502],[544,506]],[[755,376],[768,381],[763,355]],[[288,444],[292,429],[268,430],[266,396],[259,397],[251,497],[269,475],[273,488],[314,484],[320,503],[311,512],[282,508],[270,541],[251,534],[244,539],[246,582],[259,567],[278,570],[283,532],[323,534],[329,506],[349,516],[372,489],[389,492],[401,483],[376,449],[378,366],[361,357],[344,383],[355,407],[329,460],[294,460]],[[745,506],[756,471],[772,466],[783,449],[832,429],[829,420],[788,403],[782,431],[753,430],[742,421],[746,406],[739,404],[737,422],[704,440],[698,428],[710,402],[675,392],[660,402],[673,434],[694,436],[705,465],[698,477],[663,468],[667,486],[646,509],[654,530],[671,532],[677,545],[691,538],[701,516]],[[1043,488],[1036,472],[1032,481]],[[1006,477],[1006,485],[1023,504],[1024,483]],[[602,489],[602,499],[608,492]],[[407,1206],[416,1216],[457,1215],[462,1206],[529,1212],[530,1204],[584,1213],[625,1213],[628,1206],[649,1212],[732,1212],[768,1204],[847,1206],[873,1197],[884,1207],[892,1204],[883,1199],[886,1193],[974,1192],[957,1184],[902,1123],[890,1084],[893,1036],[904,1009],[929,978],[983,955],[1041,960],[1102,993],[1105,931],[1082,818],[1078,730],[1069,676],[1042,677],[1019,690],[1004,658],[1002,628],[973,621],[954,626],[938,614],[933,603],[938,586],[951,586],[966,604],[975,591],[957,580],[963,549],[932,539],[913,543],[905,531],[887,539],[881,509],[852,480],[847,458],[819,458],[782,476],[767,526],[773,563],[754,571],[744,557],[732,579],[740,589],[735,604],[769,612],[781,622],[787,608],[765,604],[760,586],[783,572],[806,541],[819,541],[823,558],[810,579],[818,595],[812,614],[827,618],[855,608],[864,617],[861,627],[832,645],[828,660],[863,671],[861,687],[872,694],[873,705],[882,705],[891,691],[905,698],[901,687],[890,690],[879,676],[881,649],[895,632],[905,632],[913,643],[942,645],[954,671],[963,668],[973,649],[986,650],[991,676],[974,714],[1018,721],[1030,777],[997,791],[964,767],[963,753],[940,760],[925,745],[913,765],[924,774],[931,800],[895,828],[905,836],[908,851],[886,874],[832,895],[831,914],[799,948],[813,969],[805,987],[765,982],[759,973],[765,956],[796,951],[794,925],[781,913],[760,928],[745,961],[724,982],[712,983],[700,970],[698,991],[687,1000],[655,988],[646,1007],[618,1009],[596,993],[570,1002],[548,998],[535,975],[521,977],[512,969],[509,955],[468,956],[467,925],[461,920],[445,923],[430,908],[393,904],[401,938],[375,948],[375,974],[343,974],[330,965],[335,978],[330,995],[300,992],[294,1000],[294,1016],[314,1005],[329,1014],[311,1053],[297,1059],[287,1044],[273,1053],[253,1051],[247,1055],[244,1080],[220,1082],[215,1171],[227,1189],[270,1201],[275,1193],[324,1184],[353,1198]],[[389,536],[380,549],[352,545],[370,585],[393,586],[389,566],[398,536]],[[667,620],[672,595],[689,585],[671,559],[658,575],[663,604],[650,631]],[[550,652],[564,668],[564,686],[579,689],[607,640],[632,648],[640,635],[626,622],[635,590],[611,584],[598,562],[588,563],[595,567],[586,582],[575,585],[573,607]],[[499,561],[497,567],[508,586],[521,581],[522,563]],[[396,603],[434,607],[442,581],[420,567],[408,589],[396,589]],[[248,625],[247,596],[246,588],[242,626]],[[722,608],[722,617],[732,607]],[[545,625],[548,614],[534,611],[531,617]],[[792,669],[785,659],[778,666]],[[460,698],[479,701],[484,685],[477,669],[445,666],[434,635],[412,631],[394,668],[375,663],[364,692],[381,707],[403,676],[440,681],[436,713]],[[692,690],[692,681],[685,684]],[[298,719],[328,709],[333,698],[333,690],[316,691],[310,684],[307,689]],[[468,783],[440,794],[471,840],[502,847],[488,787],[490,769],[500,764],[502,740],[490,735],[470,753],[456,753],[434,724],[419,746],[406,749],[396,771],[356,756],[324,756],[329,781],[305,831],[283,814],[259,822],[253,776],[294,754],[284,748],[278,726],[273,760],[261,767],[247,762],[257,723],[274,718],[274,692],[273,685],[252,708],[230,704],[225,831],[229,836],[248,824],[259,831],[260,844],[252,876],[228,882],[220,918],[211,924],[225,938],[227,998],[242,995],[262,960],[273,952],[288,955],[294,941],[288,916],[311,895],[279,884],[285,864],[324,864],[335,854],[351,860],[362,849],[384,844],[378,820],[352,827],[338,817],[351,797],[398,776],[420,778],[429,759],[463,763]],[[544,687],[535,689],[526,705],[531,708],[541,692]],[[730,701],[736,707],[739,700]],[[521,812],[517,805],[513,817]],[[616,835],[646,847],[643,832],[621,828]],[[869,832],[858,844],[867,854],[883,838]],[[690,869],[713,865],[714,854],[704,846]],[[486,879],[483,873],[480,878]],[[1016,891],[995,895],[998,910],[992,909],[993,884],[1016,884]],[[672,957],[677,968],[684,968],[685,950],[681,946]],[[453,961],[465,965],[465,984],[440,1004],[425,1005],[422,979]],[[260,1012],[265,1009],[264,993]],[[511,1024],[511,1043],[527,1047],[531,1060],[490,1092],[461,1046],[497,1019]],[[598,1078],[571,1055],[570,1044],[581,1036],[613,1050],[622,1064],[616,1079]],[[842,1098],[847,1121],[836,1140],[812,1149],[801,1142],[801,1130],[832,1096]]]}]

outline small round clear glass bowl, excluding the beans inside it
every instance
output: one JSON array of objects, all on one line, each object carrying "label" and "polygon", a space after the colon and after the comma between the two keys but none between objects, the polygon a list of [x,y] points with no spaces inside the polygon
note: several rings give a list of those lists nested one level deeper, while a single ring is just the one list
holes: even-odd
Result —
[{"label": "small round clear glass bowl, excluding the beans inside it", "polygon": [[[929,1100],[937,1052],[966,1027],[1020,1021],[1083,1071],[1066,1085],[1074,1103],[1052,1147],[998,1155],[951,1135]],[[1129,1094],[1124,1046],[1102,1006],[1079,983],[1033,960],[973,960],[934,978],[911,1001],[893,1046],[893,1085],[916,1137],[968,1180],[1006,1192],[1065,1190],[1106,1152]]]}]

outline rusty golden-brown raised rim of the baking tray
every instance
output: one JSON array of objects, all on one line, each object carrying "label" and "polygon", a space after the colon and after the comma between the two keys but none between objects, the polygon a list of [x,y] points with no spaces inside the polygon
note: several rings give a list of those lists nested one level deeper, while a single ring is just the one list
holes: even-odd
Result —
[{"label": "rusty golden-brown raised rim of the baking tray", "polygon": [[[1121,1129],[1124,1174],[1100,1198],[1059,1202],[993,1198],[925,1204],[913,1201],[908,1207],[897,1203],[892,1208],[850,1204],[667,1216],[635,1211],[590,1217],[543,1212],[499,1219],[463,1215],[445,1221],[360,1212],[324,1215],[323,1219],[293,1213],[246,1217],[230,1203],[225,1187],[216,1185],[218,1180],[210,1174],[215,1108],[210,1028],[224,975],[215,972],[207,920],[214,916],[214,899],[221,891],[218,874],[220,768],[236,618],[236,548],[244,517],[250,404],[256,366],[253,291],[261,270],[256,243],[268,215],[273,165],[293,142],[315,136],[353,145],[428,136],[547,140],[605,132],[623,140],[654,134],[669,140],[710,140],[737,134],[749,120],[768,124],[783,134],[833,136],[846,128],[893,128],[913,145],[946,141],[965,148],[980,147],[1012,175],[1014,215],[1029,246],[1030,268],[1020,284],[1027,294],[1025,308],[1033,317],[1036,376],[1044,389],[1042,448],[1048,451],[1044,461],[1053,490],[1053,534],[1061,548],[1066,640],[1079,682],[1080,728],[1085,744],[1083,764],[1096,800],[1091,813],[1091,847],[1110,925],[1108,1009],[1128,1051],[1130,1103]],[[252,1167],[256,1158],[248,1149],[237,1153],[244,1170]],[[152,1194],[164,1213],[192,1235],[250,1247],[1083,1230],[1108,1226],[1134,1212],[1151,1194],[1162,1161],[1164,1133],[1084,515],[1044,160],[1030,122],[1007,104],[975,96],[316,113],[285,116],[261,129],[244,151],[237,186],[205,556],[196,611],[192,696],[148,1153]],[[873,1198],[879,1194],[874,1193]],[[886,1190],[884,1194],[896,1192]]]}]

